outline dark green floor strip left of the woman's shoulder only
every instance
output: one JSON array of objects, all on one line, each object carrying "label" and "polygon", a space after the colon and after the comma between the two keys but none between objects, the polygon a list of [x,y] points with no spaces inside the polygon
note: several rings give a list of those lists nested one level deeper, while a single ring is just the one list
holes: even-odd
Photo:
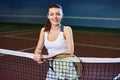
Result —
[{"label": "dark green floor strip left of the woman's shoulder only", "polygon": [[0,32],[40,29],[42,26],[42,24],[0,23]]}]

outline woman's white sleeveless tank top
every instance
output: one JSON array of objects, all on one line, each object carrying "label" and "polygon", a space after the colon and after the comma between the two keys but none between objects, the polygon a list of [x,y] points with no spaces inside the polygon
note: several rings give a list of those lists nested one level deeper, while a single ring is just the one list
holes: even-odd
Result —
[{"label": "woman's white sleeveless tank top", "polygon": [[49,41],[48,32],[45,32],[44,45],[48,50],[49,55],[63,53],[67,50],[67,43],[66,40],[64,39],[64,35],[62,31],[59,32],[57,39],[54,41]]}]

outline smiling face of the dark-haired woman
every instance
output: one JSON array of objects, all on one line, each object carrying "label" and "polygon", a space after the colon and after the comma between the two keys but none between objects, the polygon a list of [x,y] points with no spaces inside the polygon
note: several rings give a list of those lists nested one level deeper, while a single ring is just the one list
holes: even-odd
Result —
[{"label": "smiling face of the dark-haired woman", "polygon": [[63,18],[63,12],[60,8],[50,8],[48,12],[48,19],[52,25],[58,25]]}]

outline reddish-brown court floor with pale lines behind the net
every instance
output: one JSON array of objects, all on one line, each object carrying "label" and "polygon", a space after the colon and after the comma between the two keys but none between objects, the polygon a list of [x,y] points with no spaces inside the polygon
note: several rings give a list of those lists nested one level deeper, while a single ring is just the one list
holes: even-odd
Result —
[{"label": "reddish-brown court floor with pale lines behind the net", "polygon": [[[7,24],[8,25],[8,24]],[[40,29],[43,25],[18,27],[19,24],[0,26],[1,48],[19,51],[34,51],[39,38]],[[23,26],[23,25],[21,25]],[[11,29],[12,27],[12,29]],[[32,27],[32,28],[31,28]],[[75,54],[82,57],[119,57],[120,56],[120,33],[117,30],[99,32],[99,30],[77,30],[73,28]],[[76,27],[75,27],[76,28]],[[3,32],[2,32],[3,31]],[[116,32],[116,33],[115,33]],[[12,46],[11,46],[12,45]],[[46,53],[46,52],[45,52]]]}]

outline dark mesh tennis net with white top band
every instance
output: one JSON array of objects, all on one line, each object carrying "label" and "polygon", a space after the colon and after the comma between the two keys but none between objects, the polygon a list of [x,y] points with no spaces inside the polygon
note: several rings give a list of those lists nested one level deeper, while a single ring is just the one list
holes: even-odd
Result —
[{"label": "dark mesh tennis net with white top band", "polygon": [[[120,58],[80,57],[83,73],[79,80],[120,80]],[[46,64],[37,64],[33,54],[0,49],[0,80],[45,80]]]}]

